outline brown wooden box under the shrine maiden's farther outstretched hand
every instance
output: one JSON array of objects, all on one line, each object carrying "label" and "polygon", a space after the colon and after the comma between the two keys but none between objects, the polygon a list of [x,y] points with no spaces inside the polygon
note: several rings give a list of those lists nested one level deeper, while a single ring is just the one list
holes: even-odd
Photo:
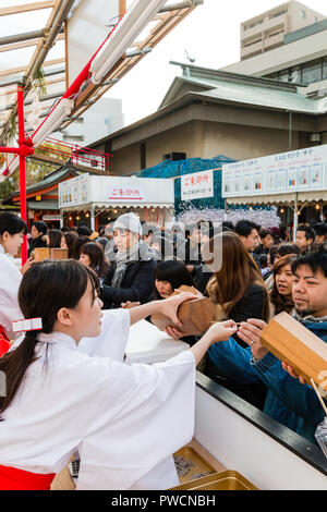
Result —
[{"label": "brown wooden box under the shrine maiden's farther outstretched hand", "polygon": [[[195,295],[197,293],[192,287],[181,287],[180,290],[194,293]],[[152,322],[161,331],[168,326],[172,326],[185,336],[201,336],[216,320],[216,308],[207,297],[186,301],[180,305],[178,318],[182,322],[182,327],[173,325],[168,316],[160,313],[152,315]]]}]

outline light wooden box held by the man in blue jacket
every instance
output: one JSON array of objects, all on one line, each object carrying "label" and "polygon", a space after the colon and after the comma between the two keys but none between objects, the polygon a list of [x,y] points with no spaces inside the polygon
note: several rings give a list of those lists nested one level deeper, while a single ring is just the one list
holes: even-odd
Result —
[{"label": "light wooden box held by the man in blue jacket", "polygon": [[[299,376],[327,391],[327,343],[287,313],[280,313],[263,330],[262,343]],[[325,381],[325,382],[324,382]]]}]

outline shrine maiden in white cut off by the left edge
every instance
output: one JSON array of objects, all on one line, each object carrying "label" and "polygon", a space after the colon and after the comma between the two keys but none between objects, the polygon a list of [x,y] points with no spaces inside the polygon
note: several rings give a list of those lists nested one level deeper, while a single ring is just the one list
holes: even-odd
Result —
[{"label": "shrine maiden in white cut off by the left edge", "polygon": [[26,233],[27,225],[21,217],[10,212],[0,214],[0,326],[11,339],[14,337],[13,320],[22,318],[17,302],[22,273],[10,257],[17,254]]}]

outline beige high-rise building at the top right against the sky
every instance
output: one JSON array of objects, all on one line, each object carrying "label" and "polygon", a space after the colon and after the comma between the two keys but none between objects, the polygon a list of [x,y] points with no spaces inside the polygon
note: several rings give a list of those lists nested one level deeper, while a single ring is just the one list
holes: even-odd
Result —
[{"label": "beige high-rise building at the top right against the sky", "polygon": [[295,31],[324,20],[324,15],[291,0],[241,24],[241,60],[272,50]]}]

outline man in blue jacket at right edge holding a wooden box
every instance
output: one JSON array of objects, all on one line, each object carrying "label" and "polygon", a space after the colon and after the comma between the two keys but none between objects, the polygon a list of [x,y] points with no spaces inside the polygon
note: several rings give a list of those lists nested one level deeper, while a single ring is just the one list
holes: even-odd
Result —
[{"label": "man in blue jacket at right edge holding a wooden box", "polygon": [[[292,264],[292,272],[294,317],[327,342],[327,251],[322,247],[299,256]],[[315,429],[324,418],[324,411],[313,388],[294,380],[281,362],[262,345],[265,326],[263,320],[242,322],[238,334],[250,346],[242,349],[230,338],[210,346],[210,359],[243,386],[257,380],[264,382],[268,389],[264,412],[315,443]]]}]

